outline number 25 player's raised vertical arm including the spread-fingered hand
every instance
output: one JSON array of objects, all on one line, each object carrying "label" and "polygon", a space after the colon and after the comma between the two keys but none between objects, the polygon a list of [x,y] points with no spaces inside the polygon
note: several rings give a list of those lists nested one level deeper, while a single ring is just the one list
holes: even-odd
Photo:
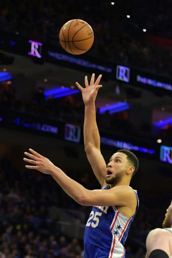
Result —
[{"label": "number 25 player's raised vertical arm including the spread-fingered hand", "polygon": [[[92,74],[90,85],[88,84],[87,76],[85,76],[85,88],[76,82],[77,87],[82,92],[82,98],[85,104],[84,116],[84,145],[87,158],[92,166],[93,172],[98,179],[101,186],[105,182],[106,163],[100,152],[100,136],[96,123],[95,99],[98,89],[102,87],[99,85],[101,75],[95,81],[95,75]],[[94,82],[95,81],[95,82]]]}]

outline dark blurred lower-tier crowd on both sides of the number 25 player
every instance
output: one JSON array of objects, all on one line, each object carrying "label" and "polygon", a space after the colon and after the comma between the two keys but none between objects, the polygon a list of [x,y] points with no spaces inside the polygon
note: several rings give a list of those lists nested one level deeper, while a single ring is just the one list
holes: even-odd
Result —
[{"label": "dark blurred lower-tier crowd on both sides of the number 25 player", "polygon": [[[98,187],[92,173],[70,173],[85,187]],[[73,218],[77,210],[79,223],[85,224],[91,207],[75,203],[52,177],[38,171],[17,170],[8,156],[0,161],[0,183],[1,258],[83,258],[83,239],[64,235],[58,216],[51,219],[49,210],[59,207]],[[140,208],[125,244],[126,258],[145,257],[146,236],[152,228],[161,227],[169,202],[163,195],[148,197],[139,189],[138,193]]]}]

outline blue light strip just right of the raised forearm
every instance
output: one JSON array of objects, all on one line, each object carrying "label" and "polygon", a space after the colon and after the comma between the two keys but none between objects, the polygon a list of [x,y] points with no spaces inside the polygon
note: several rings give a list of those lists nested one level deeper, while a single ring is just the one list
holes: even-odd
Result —
[{"label": "blue light strip just right of the raised forearm", "polygon": [[119,102],[119,103],[111,104],[109,106],[100,107],[99,113],[103,114],[106,111],[109,111],[109,114],[113,114],[113,113],[117,113],[117,112],[121,112],[121,111],[127,110],[129,108],[130,108],[130,106],[129,106],[128,103],[126,103],[126,102]]}]

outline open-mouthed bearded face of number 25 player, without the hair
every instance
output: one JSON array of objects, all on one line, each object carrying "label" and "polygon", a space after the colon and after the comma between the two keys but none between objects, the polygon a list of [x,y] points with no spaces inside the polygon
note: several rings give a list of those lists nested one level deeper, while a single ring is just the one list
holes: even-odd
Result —
[{"label": "open-mouthed bearded face of number 25 player, without the hair", "polygon": [[108,184],[117,184],[126,174],[129,168],[127,155],[121,152],[114,153],[107,164],[107,175],[105,178]]}]

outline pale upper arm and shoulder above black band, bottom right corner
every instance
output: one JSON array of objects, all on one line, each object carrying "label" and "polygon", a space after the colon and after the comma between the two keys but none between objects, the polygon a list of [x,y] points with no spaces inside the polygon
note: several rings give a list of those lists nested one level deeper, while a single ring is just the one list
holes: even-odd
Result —
[{"label": "pale upper arm and shoulder above black band, bottom right corner", "polygon": [[146,239],[146,250],[145,258],[168,258],[170,255],[168,232],[160,228],[151,230]]}]

